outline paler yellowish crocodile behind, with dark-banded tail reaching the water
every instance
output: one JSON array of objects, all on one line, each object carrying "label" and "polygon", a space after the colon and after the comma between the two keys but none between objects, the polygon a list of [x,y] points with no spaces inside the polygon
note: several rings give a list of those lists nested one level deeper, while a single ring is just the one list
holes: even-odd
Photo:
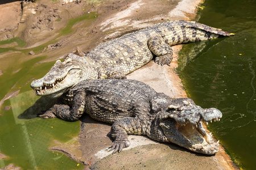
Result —
[{"label": "paler yellowish crocodile behind, with dark-banded tail reaching the water", "polygon": [[82,80],[125,79],[154,56],[159,65],[170,65],[172,45],[230,35],[234,34],[196,22],[159,23],[100,44],[87,54],[69,53],[31,87],[39,96],[60,96]]}]

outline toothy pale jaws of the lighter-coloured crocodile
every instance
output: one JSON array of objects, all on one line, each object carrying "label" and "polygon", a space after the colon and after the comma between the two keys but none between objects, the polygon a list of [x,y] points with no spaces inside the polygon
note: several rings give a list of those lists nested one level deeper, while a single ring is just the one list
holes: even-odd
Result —
[{"label": "toothy pale jaws of the lighter-coloured crocodile", "polygon": [[56,98],[64,94],[64,92],[67,91],[67,88],[72,87],[79,82],[80,73],[80,69],[71,69],[64,76],[51,79],[51,82],[47,82],[44,78],[34,80],[31,83],[31,88],[35,90],[36,95],[38,96]]}]

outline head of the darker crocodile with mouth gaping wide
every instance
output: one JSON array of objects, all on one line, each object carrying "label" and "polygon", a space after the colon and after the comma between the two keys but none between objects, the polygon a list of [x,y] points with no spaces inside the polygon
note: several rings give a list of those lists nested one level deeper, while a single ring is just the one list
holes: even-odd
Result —
[{"label": "head of the darker crocodile with mouth gaping wide", "polygon": [[201,154],[213,155],[218,152],[219,143],[213,141],[202,125],[202,121],[220,121],[222,113],[215,108],[203,109],[193,100],[176,99],[167,112],[159,115],[159,125],[168,142]]}]

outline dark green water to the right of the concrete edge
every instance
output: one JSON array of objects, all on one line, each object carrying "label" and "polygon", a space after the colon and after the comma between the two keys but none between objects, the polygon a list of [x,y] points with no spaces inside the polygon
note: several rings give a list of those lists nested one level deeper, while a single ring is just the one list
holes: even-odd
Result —
[{"label": "dark green water to the right of the concrete edge", "polygon": [[200,23],[236,33],[184,45],[179,73],[187,94],[203,108],[220,109],[214,137],[244,169],[256,168],[256,1],[208,0]]}]

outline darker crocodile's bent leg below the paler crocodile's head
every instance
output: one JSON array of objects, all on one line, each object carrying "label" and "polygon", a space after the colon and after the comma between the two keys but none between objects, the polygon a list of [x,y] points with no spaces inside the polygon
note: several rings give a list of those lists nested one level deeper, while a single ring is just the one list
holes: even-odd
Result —
[{"label": "darker crocodile's bent leg below the paler crocodile's head", "polygon": [[85,92],[77,91],[74,96],[72,107],[65,104],[55,104],[43,114],[38,115],[42,118],[59,117],[65,121],[77,121],[85,111]]}]

